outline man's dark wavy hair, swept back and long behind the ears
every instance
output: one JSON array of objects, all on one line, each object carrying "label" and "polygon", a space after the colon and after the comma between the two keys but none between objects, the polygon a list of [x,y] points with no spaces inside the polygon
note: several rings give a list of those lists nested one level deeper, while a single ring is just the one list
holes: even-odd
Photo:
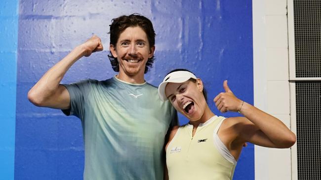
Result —
[{"label": "man's dark wavy hair, swept back and long behind the ears", "polygon": [[[143,29],[144,32],[146,33],[147,39],[149,42],[149,48],[155,46],[156,34],[153,28],[153,24],[148,18],[140,14],[134,13],[129,16],[120,16],[118,18],[114,18],[112,20],[112,24],[109,26],[110,26],[110,31],[108,33],[110,34],[110,44],[114,45],[115,48],[116,48],[116,44],[120,36],[120,33],[123,32],[128,27],[137,27],[137,26]],[[115,58],[111,52],[108,55],[108,58],[110,60],[110,63],[112,64],[114,71],[119,72],[119,63],[117,58]],[[155,60],[154,55],[147,60],[145,71],[144,71],[145,74],[148,71],[148,67],[152,67],[154,60]]]}]

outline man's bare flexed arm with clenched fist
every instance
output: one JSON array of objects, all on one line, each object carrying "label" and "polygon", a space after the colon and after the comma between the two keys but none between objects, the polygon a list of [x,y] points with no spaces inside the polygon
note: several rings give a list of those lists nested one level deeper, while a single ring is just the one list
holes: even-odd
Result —
[{"label": "man's bare flexed arm with clenched fist", "polygon": [[60,85],[60,81],[68,69],[81,57],[88,57],[93,52],[102,51],[101,40],[92,36],[86,42],[77,46],[64,59],[51,67],[41,79],[28,92],[28,99],[36,106],[56,109],[70,108],[70,95],[68,90]]}]

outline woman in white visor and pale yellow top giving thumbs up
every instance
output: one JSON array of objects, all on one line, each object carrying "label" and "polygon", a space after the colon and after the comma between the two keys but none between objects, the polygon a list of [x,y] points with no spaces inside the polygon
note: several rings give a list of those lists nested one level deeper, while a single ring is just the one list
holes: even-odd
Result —
[{"label": "woman in white visor and pale yellow top giving thumbs up", "polygon": [[295,143],[295,135],[281,120],[238,99],[227,81],[223,87],[225,92],[214,98],[217,109],[244,117],[215,116],[201,79],[185,69],[171,71],[160,84],[161,100],[168,99],[190,120],[173,128],[165,146],[169,180],[232,180],[246,142],[269,148]]}]

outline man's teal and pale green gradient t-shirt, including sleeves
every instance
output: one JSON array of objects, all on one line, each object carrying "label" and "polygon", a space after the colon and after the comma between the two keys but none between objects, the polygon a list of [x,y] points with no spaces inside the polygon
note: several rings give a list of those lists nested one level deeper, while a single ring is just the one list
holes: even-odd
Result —
[{"label": "man's teal and pale green gradient t-shirt, including sleeves", "polygon": [[80,118],[85,149],[84,180],[162,180],[164,137],[177,113],[156,87],[116,77],[64,85]]}]

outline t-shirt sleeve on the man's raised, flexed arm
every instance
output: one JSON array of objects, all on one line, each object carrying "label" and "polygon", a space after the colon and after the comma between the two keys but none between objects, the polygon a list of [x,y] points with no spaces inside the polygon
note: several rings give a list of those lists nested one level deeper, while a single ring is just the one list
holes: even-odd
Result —
[{"label": "t-shirt sleeve on the man's raised, flexed arm", "polygon": [[70,95],[70,109],[61,110],[66,116],[74,115],[82,119],[86,97],[90,90],[89,84],[89,80],[83,80],[72,84],[63,84]]}]

